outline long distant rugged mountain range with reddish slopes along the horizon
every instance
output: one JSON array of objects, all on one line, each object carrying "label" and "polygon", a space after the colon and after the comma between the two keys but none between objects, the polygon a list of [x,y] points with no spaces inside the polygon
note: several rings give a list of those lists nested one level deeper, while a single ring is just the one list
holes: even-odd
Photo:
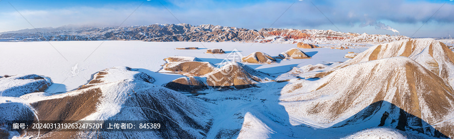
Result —
[{"label": "long distant rugged mountain range with reddish slopes along the horizon", "polygon": [[408,39],[405,36],[343,33],[332,30],[261,29],[249,30],[214,25],[153,24],[129,27],[60,27],[26,29],[0,33],[0,41],[95,41],[142,40],[150,42],[260,42],[296,43],[348,41],[352,43],[388,43]]}]

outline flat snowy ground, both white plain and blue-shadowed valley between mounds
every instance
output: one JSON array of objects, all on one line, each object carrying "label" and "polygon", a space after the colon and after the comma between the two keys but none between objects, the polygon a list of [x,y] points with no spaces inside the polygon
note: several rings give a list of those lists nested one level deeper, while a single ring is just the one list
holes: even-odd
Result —
[{"label": "flat snowy ground, both white plain and blue-shadowed valley between mounds", "polygon": [[[184,47],[198,47],[199,49],[176,49]],[[216,65],[221,63],[224,58],[229,57],[234,50],[238,50],[242,56],[247,56],[256,51],[264,52],[270,56],[277,56],[281,52],[296,47],[296,44],[239,42],[3,42],[0,43],[0,76],[37,74],[48,77],[53,84],[45,92],[52,94],[77,89],[80,85],[86,84],[93,74],[106,68],[128,66],[153,77],[156,80],[153,84],[163,85],[183,77],[179,74],[157,72],[165,63],[163,59],[170,56],[197,57],[201,61],[211,62]],[[212,48],[223,49],[226,54],[205,53],[207,49]],[[288,73],[286,72],[293,67],[302,67],[295,69],[295,71],[305,71],[312,67],[310,65],[318,64],[318,66],[325,67],[323,63],[338,64],[338,62],[349,60],[344,58],[348,52],[361,53],[368,48],[351,48],[347,50],[330,48],[298,49],[311,56],[311,59],[289,59],[279,61],[276,64],[245,64],[258,71],[280,78],[283,75],[287,75]],[[240,61],[238,60],[237,62]],[[282,76],[278,77],[281,74]],[[319,81],[311,82],[321,82],[322,80],[323,78]],[[212,125],[210,130],[206,132],[206,138],[298,138],[302,136],[309,138],[427,137],[424,134],[412,134],[390,128],[369,128],[369,126],[373,127],[372,125],[376,125],[375,123],[370,124],[371,122],[363,125],[366,129],[363,126],[361,128],[352,128],[352,126],[330,128],[323,124],[310,122],[311,120],[309,119],[297,117],[291,114],[289,109],[286,109],[288,107],[286,102],[280,101],[283,93],[282,88],[289,83],[291,81],[263,83],[254,88],[225,91],[217,91],[217,89],[211,88],[198,92],[205,95],[190,98],[191,100],[206,102],[204,104],[207,105],[207,109],[211,112]],[[33,101],[40,100],[38,96],[41,93],[34,94],[21,98],[31,98]],[[67,94],[52,96],[63,95]],[[31,99],[25,100],[31,101]],[[10,98],[8,100],[19,101]],[[378,120],[376,118],[373,121]],[[219,134],[221,135],[219,136]]]}]

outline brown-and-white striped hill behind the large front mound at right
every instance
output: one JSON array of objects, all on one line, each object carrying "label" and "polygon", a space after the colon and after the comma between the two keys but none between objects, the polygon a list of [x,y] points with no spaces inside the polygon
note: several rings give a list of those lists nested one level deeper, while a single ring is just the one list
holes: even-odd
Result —
[{"label": "brown-and-white striped hill behind the large front mound at right", "polygon": [[434,39],[408,39],[377,45],[339,67],[396,56],[413,59],[454,86],[454,53]]}]

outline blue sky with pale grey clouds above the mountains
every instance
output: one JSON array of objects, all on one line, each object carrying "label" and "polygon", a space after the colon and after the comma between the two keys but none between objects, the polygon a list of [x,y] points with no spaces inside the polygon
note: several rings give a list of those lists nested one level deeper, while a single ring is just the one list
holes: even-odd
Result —
[{"label": "blue sky with pale grey clouds above the mountains", "polygon": [[[454,2],[448,0],[2,0],[0,32],[32,28],[10,3],[36,28],[65,25],[119,26],[137,8],[122,26],[182,22],[257,30],[271,27],[368,34],[394,34],[393,31],[398,31],[401,35],[413,37],[446,37],[454,34]],[[424,24],[426,21],[428,22]]]}]

